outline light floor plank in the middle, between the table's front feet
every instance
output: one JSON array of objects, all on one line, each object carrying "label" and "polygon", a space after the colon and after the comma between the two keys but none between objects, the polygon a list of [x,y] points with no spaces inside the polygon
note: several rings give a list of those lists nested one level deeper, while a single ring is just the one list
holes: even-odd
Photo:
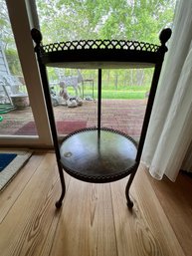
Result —
[{"label": "light floor plank in the middle, between the table's front feet", "polygon": [[71,180],[51,255],[117,255],[109,184]]}]

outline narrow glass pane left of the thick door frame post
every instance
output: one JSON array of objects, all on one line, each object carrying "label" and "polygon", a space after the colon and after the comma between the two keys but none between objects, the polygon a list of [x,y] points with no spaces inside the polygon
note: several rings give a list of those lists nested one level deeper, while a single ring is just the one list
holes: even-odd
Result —
[{"label": "narrow glass pane left of the thick door frame post", "polygon": [[5,0],[0,0],[0,135],[37,134]]}]

